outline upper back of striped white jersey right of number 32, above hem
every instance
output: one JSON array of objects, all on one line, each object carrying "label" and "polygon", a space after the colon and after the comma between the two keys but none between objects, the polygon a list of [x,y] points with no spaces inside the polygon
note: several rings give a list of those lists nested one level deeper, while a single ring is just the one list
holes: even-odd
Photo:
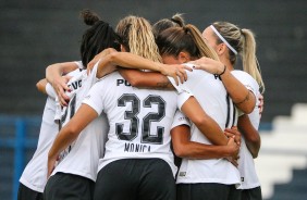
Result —
[{"label": "upper back of striped white jersey right of number 32, above hem", "polygon": [[[236,122],[236,111],[219,76],[195,70],[187,73],[187,80],[176,87],[179,92],[191,92],[205,112],[224,129]],[[172,79],[170,79],[172,80]],[[181,107],[181,105],[179,105]],[[211,143],[200,130],[192,124],[192,140]]]}]

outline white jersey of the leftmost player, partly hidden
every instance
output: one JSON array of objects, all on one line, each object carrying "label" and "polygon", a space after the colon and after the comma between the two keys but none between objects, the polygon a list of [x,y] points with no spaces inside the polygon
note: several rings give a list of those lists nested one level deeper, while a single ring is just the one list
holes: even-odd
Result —
[{"label": "white jersey of the leftmost player, partly hidden", "polygon": [[24,186],[38,192],[42,192],[46,186],[48,152],[59,132],[59,126],[53,121],[54,113],[54,97],[48,96],[44,109],[37,149],[20,178]]}]

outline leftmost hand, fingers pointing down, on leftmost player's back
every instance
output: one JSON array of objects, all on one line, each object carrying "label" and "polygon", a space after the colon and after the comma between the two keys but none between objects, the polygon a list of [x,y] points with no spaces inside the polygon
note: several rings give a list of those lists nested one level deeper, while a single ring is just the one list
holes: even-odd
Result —
[{"label": "leftmost hand, fingers pointing down, on leftmost player's back", "polygon": [[65,95],[65,91],[70,91],[67,83],[71,78],[71,76],[60,76],[53,79],[52,87],[54,88],[62,107],[67,107],[67,102],[70,101],[70,98]]}]

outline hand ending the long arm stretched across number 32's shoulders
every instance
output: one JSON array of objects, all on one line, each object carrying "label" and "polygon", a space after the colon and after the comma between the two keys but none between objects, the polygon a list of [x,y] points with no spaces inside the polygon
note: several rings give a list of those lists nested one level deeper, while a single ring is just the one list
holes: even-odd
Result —
[{"label": "hand ending the long arm stretched across number 32's shoulders", "polygon": [[183,64],[163,64],[160,73],[174,78],[176,85],[181,82],[182,84],[187,80],[186,71],[193,71],[192,67]]}]

